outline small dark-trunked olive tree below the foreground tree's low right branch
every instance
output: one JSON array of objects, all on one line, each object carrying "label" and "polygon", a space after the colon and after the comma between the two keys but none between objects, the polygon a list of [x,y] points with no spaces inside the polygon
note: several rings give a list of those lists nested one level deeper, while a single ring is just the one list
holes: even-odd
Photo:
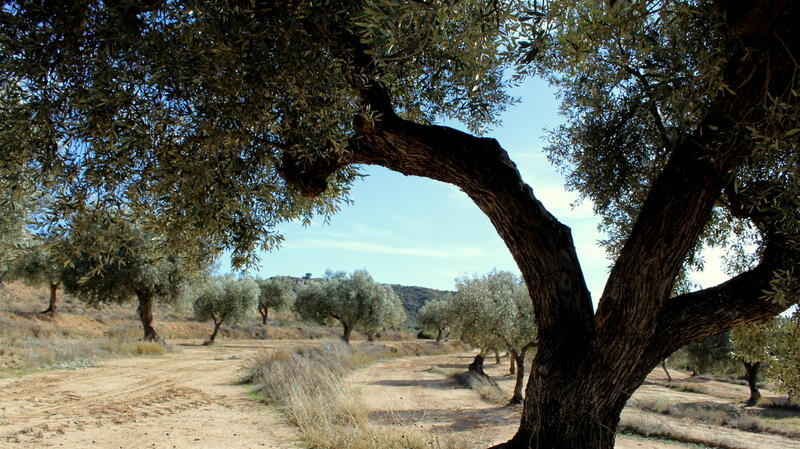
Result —
[{"label": "small dark-trunked olive tree below the foreground tree's low right branch", "polygon": [[770,347],[773,346],[778,321],[777,318],[770,318],[736,326],[731,330],[732,356],[744,365],[745,379],[750,387],[747,405],[755,405],[761,399],[758,370],[771,359]]}]

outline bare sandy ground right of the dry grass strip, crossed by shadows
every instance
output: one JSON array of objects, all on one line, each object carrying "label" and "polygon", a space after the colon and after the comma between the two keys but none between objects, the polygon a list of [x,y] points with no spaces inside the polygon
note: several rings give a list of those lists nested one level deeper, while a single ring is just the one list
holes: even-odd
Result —
[{"label": "bare sandy ground right of the dry grass strip, crossed by shadows", "polygon": [[[455,354],[379,362],[354,373],[349,381],[360,391],[362,402],[369,408],[370,416],[374,420],[389,425],[454,432],[474,441],[475,448],[488,447],[507,441],[514,435],[521,409],[480,400],[474,391],[462,388],[454,379],[443,374],[452,370],[463,371],[473,355]],[[487,373],[498,380],[500,387],[510,398],[514,380],[508,375],[508,360],[503,359],[500,365],[494,365],[493,359],[489,358],[486,363]],[[676,382],[687,377],[686,373],[675,372],[673,375],[678,376]],[[715,381],[704,382],[709,394],[678,392],[653,384],[661,381],[662,377],[664,375],[660,368],[655,370],[648,378],[648,384],[634,394],[634,399],[731,403],[730,399],[725,398],[733,396],[744,400],[748,395],[747,387]],[[768,391],[765,393],[766,396],[772,395]],[[623,413],[623,420],[625,419],[668,427],[676,433],[683,431],[701,440],[717,442],[723,447],[800,449],[800,441],[796,439],[703,425],[630,407]],[[616,447],[671,449],[698,446],[620,435],[617,437]]]}]

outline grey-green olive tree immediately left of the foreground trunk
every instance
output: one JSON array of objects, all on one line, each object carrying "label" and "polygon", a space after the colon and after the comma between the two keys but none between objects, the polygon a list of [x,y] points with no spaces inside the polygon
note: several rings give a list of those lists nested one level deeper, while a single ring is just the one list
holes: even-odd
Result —
[{"label": "grey-green olive tree immediately left of the foreground trunk", "polygon": [[522,279],[506,271],[456,279],[450,308],[462,340],[481,352],[508,351],[518,367],[511,403],[522,403],[525,355],[537,345],[533,305]]}]

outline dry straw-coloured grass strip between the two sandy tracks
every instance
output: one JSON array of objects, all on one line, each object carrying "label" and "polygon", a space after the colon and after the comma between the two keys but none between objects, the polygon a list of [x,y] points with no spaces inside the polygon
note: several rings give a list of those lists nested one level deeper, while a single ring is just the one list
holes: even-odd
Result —
[{"label": "dry straw-coloured grass strip between the two sandy tracks", "polygon": [[467,447],[451,435],[401,428],[403,423],[370,422],[367,409],[341,379],[378,359],[402,351],[375,344],[318,346],[258,355],[243,382],[255,384],[264,400],[276,405],[316,449],[456,449]]}]

